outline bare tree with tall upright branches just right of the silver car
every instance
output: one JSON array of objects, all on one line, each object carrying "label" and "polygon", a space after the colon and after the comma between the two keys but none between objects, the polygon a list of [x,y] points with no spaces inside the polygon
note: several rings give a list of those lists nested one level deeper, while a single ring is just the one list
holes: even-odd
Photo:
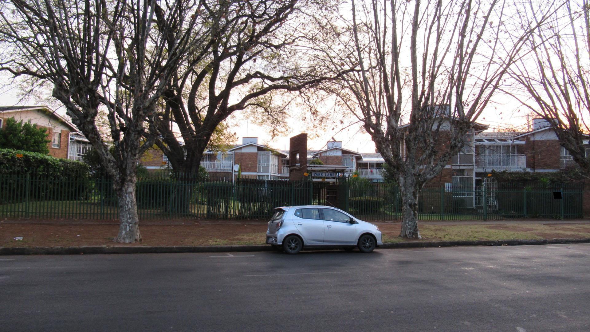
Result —
[{"label": "bare tree with tall upright branches just right of the silver car", "polygon": [[402,237],[420,237],[419,193],[460,151],[537,25],[515,29],[507,6],[352,0],[349,14],[332,26],[340,45],[329,66],[359,71],[327,89],[356,115],[393,170],[402,194]]}]

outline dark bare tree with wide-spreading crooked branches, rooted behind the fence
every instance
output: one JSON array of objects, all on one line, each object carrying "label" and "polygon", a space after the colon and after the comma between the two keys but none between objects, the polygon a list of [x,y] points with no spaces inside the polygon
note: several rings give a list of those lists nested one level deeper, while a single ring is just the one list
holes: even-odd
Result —
[{"label": "dark bare tree with wide-spreading crooked branches, rooted behind the fence", "polygon": [[307,100],[308,90],[345,72],[323,67],[315,58],[320,53],[309,47],[318,37],[318,22],[309,18],[330,2],[204,2],[201,14],[208,20],[202,24],[211,30],[175,70],[158,113],[156,144],[176,173],[198,170],[215,128],[232,113],[256,110],[279,126],[294,95]]}]

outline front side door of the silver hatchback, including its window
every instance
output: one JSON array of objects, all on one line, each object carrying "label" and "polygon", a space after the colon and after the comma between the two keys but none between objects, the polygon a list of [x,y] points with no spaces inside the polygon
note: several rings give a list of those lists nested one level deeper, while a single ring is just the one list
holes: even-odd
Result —
[{"label": "front side door of the silver hatchback, including its window", "polygon": [[353,245],[356,240],[356,224],[350,217],[335,209],[322,209],[324,220],[324,244]]}]

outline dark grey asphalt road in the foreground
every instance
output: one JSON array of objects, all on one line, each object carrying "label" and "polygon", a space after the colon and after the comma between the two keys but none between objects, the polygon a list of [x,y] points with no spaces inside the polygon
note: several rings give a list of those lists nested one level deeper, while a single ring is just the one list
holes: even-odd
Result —
[{"label": "dark grey asphalt road in the foreground", "polygon": [[0,256],[0,331],[590,331],[590,245]]}]

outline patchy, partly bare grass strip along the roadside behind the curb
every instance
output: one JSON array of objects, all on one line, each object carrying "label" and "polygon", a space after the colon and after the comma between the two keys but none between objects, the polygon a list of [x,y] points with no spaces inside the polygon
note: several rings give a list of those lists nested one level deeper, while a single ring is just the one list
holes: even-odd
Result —
[{"label": "patchy, partly bare grass strip along the roadside behind the curb", "polygon": [[[379,224],[383,242],[403,242],[399,224]],[[114,245],[119,226],[0,223],[0,246]],[[590,223],[578,224],[419,224],[423,241],[588,238]],[[143,225],[144,246],[263,245],[266,225]],[[14,240],[22,236],[23,240]]]}]

